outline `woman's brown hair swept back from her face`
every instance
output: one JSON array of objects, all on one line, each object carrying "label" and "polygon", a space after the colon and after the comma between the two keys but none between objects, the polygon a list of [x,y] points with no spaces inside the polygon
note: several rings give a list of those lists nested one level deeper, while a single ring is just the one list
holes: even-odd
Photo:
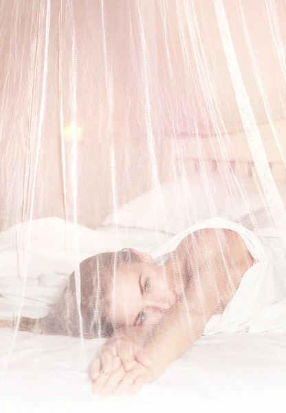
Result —
[{"label": "woman's brown hair swept back from her face", "polygon": [[[69,276],[67,287],[47,317],[41,319],[41,332],[85,338],[111,337],[115,330],[110,317],[108,289],[113,274],[121,264],[140,262],[140,257],[125,249],[117,253],[101,253],[80,263]],[[76,279],[80,281],[80,290]],[[76,292],[80,291],[80,310]]]}]

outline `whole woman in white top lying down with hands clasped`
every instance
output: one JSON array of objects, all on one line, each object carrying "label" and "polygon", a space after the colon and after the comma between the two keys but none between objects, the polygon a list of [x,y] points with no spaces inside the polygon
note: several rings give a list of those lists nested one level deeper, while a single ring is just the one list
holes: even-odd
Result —
[{"label": "whole woman in white top lying down with hands clasped", "polygon": [[[285,233],[279,238],[276,229],[260,236],[214,219],[175,237],[162,266],[133,249],[96,255],[80,264],[80,302],[72,274],[63,296],[34,328],[45,334],[112,336],[91,363],[93,390],[102,396],[134,394],[188,350],[215,315],[241,324],[286,295],[279,270],[286,264],[283,240]],[[284,261],[278,263],[278,257]],[[260,294],[264,284],[267,291]],[[30,319],[19,326],[33,327]]]}]

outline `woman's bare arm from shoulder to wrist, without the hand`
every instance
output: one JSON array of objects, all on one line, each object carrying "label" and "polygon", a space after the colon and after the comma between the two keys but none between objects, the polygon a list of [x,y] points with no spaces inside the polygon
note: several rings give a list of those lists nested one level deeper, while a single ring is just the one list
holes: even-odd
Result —
[{"label": "woman's bare arm from shoulder to wrist, without the hand", "polygon": [[219,305],[228,304],[253,264],[245,242],[233,231],[197,231],[185,243],[192,271],[185,297],[164,314],[145,343],[156,377],[203,335]]}]

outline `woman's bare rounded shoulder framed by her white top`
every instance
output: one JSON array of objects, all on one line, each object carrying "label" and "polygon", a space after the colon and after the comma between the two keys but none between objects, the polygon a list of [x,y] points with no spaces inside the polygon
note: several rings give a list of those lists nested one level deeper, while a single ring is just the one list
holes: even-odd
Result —
[{"label": "woman's bare rounded shoulder framed by her white top", "polygon": [[190,295],[211,316],[232,299],[253,258],[242,237],[228,229],[197,231],[189,238],[188,248],[192,256]]}]

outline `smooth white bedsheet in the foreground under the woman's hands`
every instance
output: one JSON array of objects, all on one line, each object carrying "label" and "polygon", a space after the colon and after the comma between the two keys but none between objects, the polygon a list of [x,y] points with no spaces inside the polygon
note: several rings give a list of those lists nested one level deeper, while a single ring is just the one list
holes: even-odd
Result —
[{"label": "smooth white bedsheet in the foreground under the woman's hands", "polygon": [[[102,340],[0,332],[3,413],[285,412],[286,333],[203,337],[133,399],[91,393],[87,366]],[[9,357],[10,356],[10,357]],[[4,374],[5,372],[5,374]]]}]

